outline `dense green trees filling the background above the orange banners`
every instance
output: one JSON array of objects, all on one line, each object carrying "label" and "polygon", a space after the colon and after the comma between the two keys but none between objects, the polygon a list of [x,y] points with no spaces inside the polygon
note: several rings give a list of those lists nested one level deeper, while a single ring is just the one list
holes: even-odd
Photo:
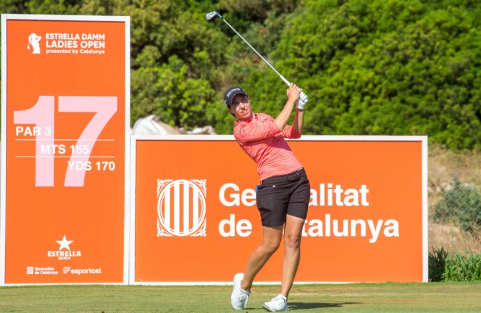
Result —
[{"label": "dense green trees filling the background above the orange banners", "polygon": [[277,114],[287,86],[218,10],[310,97],[306,134],[428,135],[481,149],[481,3],[475,0],[5,0],[5,13],[130,15],[132,122],[179,127],[233,118],[238,84]]}]

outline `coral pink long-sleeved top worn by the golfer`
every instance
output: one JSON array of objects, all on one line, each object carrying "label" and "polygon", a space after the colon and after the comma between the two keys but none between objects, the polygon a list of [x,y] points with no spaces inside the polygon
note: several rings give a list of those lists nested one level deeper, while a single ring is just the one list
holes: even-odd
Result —
[{"label": "coral pink long-sleeved top worn by the golfer", "polygon": [[280,131],[270,115],[254,113],[252,120],[237,120],[234,137],[245,153],[257,163],[261,181],[303,167],[284,140],[284,137],[300,138],[300,134],[291,125],[286,125]]}]

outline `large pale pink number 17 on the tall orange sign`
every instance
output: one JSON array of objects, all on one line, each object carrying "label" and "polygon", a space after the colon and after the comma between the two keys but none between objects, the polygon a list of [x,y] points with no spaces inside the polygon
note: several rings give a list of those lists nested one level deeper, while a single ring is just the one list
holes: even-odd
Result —
[{"label": "large pale pink number 17 on the tall orange sign", "polygon": [[[86,125],[75,145],[55,144],[55,99],[53,96],[40,96],[30,109],[15,111],[15,124],[33,124],[30,135],[36,136],[35,148],[35,186],[54,186],[55,152],[72,154],[68,161],[64,186],[84,186],[86,170],[91,168],[89,162],[93,146],[107,122],[117,111],[117,97],[59,97],[59,112],[96,113]],[[19,134],[22,127],[17,127]],[[82,164],[82,166],[78,166]],[[98,161],[94,165],[98,170],[114,170],[115,163]]]}]

